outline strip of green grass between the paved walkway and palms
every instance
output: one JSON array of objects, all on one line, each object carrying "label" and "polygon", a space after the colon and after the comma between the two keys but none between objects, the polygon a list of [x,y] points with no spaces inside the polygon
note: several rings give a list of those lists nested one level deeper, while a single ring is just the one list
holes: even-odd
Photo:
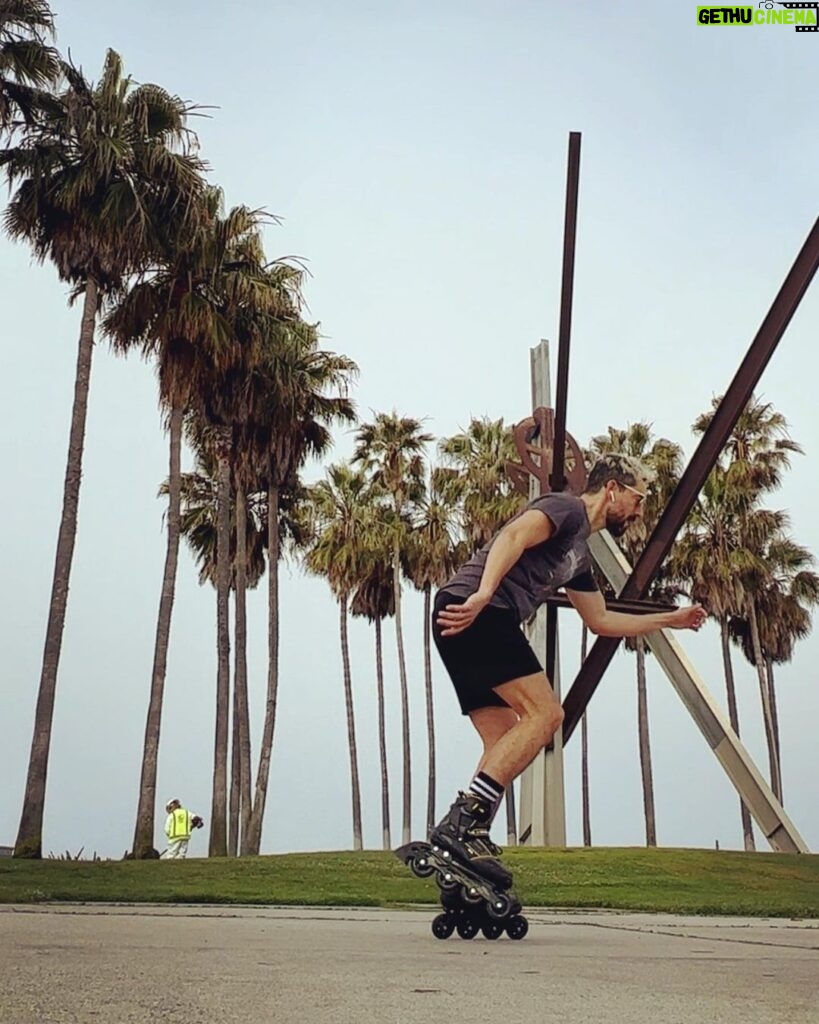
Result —
[{"label": "strip of green grass between the paved walkway and palms", "polygon": [[[819,856],[703,850],[508,850],[526,906],[819,918]],[[389,853],[294,853],[236,860],[0,860],[0,901],[433,903]]]}]

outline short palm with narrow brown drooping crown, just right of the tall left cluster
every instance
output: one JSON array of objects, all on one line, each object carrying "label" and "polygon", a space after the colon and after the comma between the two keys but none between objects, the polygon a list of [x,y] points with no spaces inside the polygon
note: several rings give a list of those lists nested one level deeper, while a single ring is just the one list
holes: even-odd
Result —
[{"label": "short palm with narrow brown drooping crown, just right of the tall left cluster", "polygon": [[[392,551],[389,531],[374,517],[374,526],[367,537],[367,575],[358,584],[350,602],[353,616],[365,616],[373,623],[376,634],[376,699],[378,705],[378,750],[381,769],[381,841],[385,850],[392,849],[390,830],[390,781],[387,768],[387,730],[384,701],[384,654],[381,624],[395,614],[395,588],[392,582]],[[379,528],[381,527],[381,528]]]}]

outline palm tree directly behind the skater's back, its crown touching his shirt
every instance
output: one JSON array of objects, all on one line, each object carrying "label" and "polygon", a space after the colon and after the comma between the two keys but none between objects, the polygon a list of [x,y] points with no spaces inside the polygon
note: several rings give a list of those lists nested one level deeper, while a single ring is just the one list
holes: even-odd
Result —
[{"label": "palm tree directly behind the skater's back, its crown touching his shirt", "polygon": [[460,540],[458,502],[452,495],[451,477],[440,468],[433,469],[427,487],[428,497],[418,506],[416,528],[407,548],[407,575],[424,594],[424,692],[427,706],[428,790],[427,833],[435,825],[435,721],[432,702],[432,657],[430,618],[432,588],[446,583],[465,560]]}]

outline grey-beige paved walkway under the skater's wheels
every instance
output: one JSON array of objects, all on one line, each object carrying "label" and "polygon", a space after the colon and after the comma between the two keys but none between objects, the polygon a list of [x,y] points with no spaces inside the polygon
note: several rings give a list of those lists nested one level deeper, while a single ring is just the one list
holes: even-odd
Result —
[{"label": "grey-beige paved walkway under the skater's wheels", "polygon": [[0,906],[0,1024],[817,1024],[819,922],[532,911]]}]

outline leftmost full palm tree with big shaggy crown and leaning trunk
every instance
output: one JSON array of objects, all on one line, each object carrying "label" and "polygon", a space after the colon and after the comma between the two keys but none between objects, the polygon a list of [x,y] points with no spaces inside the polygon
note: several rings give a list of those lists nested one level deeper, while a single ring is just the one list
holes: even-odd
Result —
[{"label": "leftmost full palm tree with big shaggy crown and leaning trunk", "polygon": [[110,50],[95,86],[64,66],[67,89],[48,117],[0,153],[16,185],[4,215],[14,239],[50,259],[83,314],[74,408],[54,560],[48,625],[35,714],[17,856],[40,857],[48,751],[69,580],[77,534],[82,456],[94,328],[100,302],[154,258],[159,225],[190,208],[201,164],[188,152],[189,108],[156,85],[135,86]]}]

